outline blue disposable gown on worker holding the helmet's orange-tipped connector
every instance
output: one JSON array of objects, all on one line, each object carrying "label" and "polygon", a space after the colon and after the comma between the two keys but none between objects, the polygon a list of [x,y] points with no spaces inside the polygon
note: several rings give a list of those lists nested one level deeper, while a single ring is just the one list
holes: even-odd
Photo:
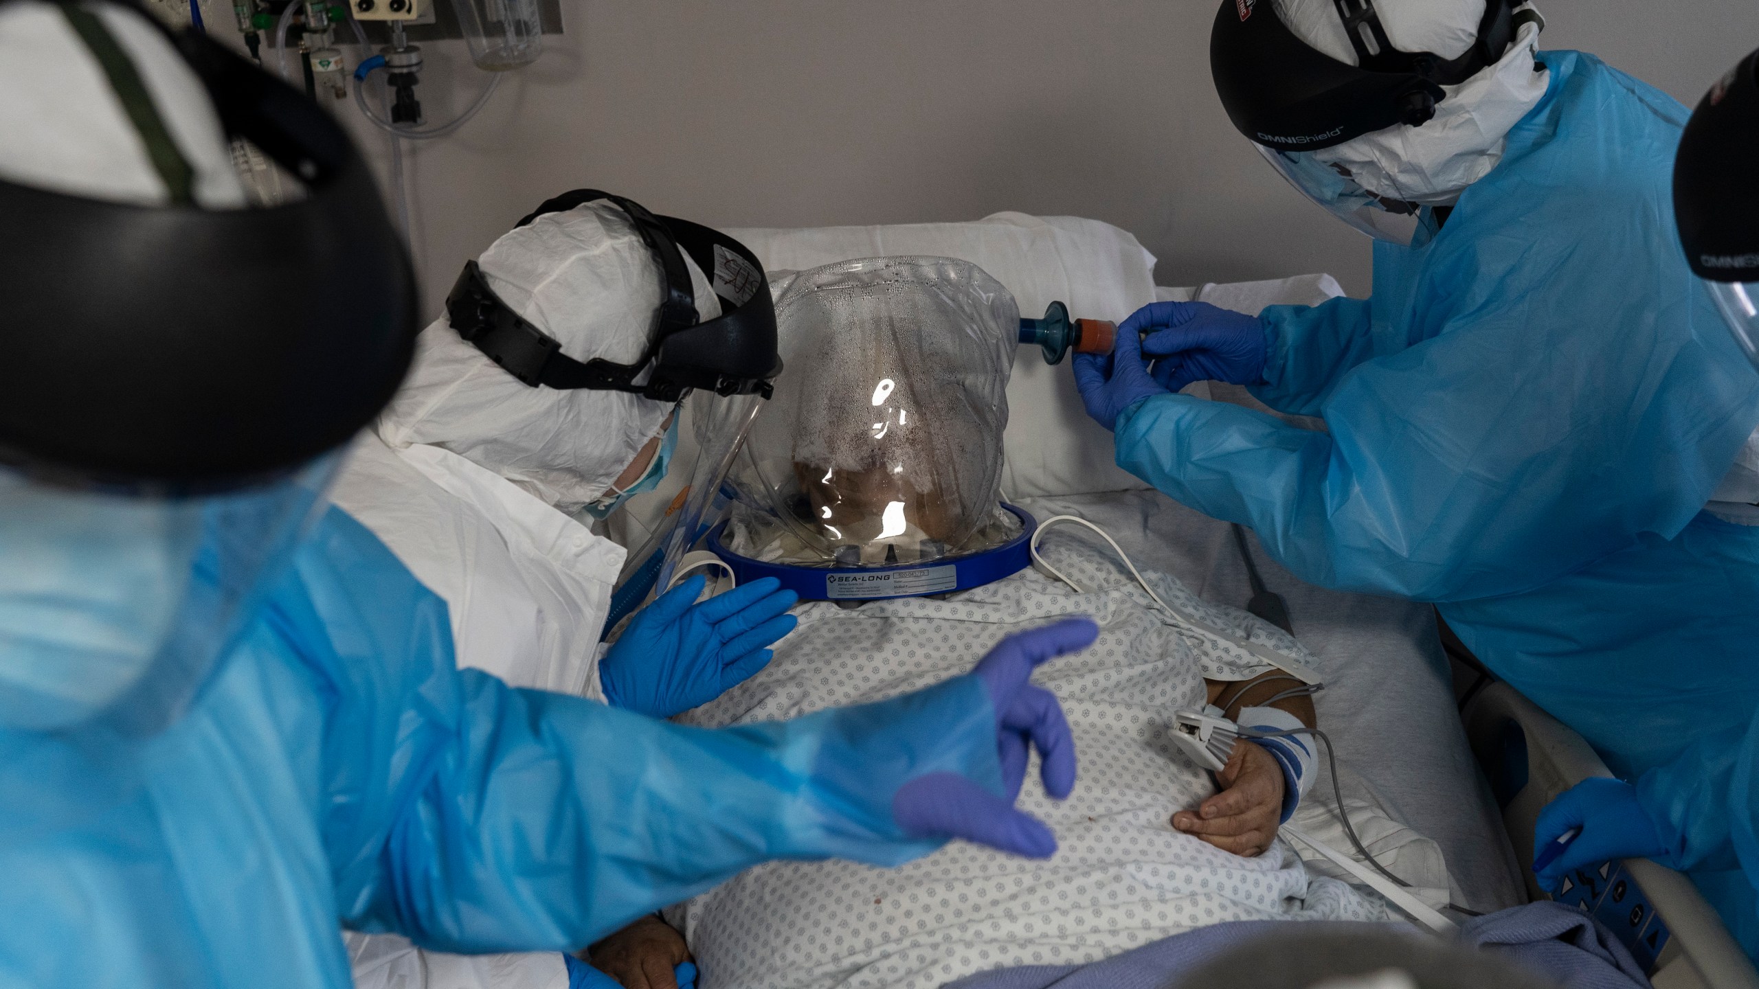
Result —
[{"label": "blue disposable gown on worker holding the helmet's orange-tipped connector", "polygon": [[1157,396],[1117,463],[1244,523],[1305,581],[1437,602],[1615,773],[1759,706],[1759,528],[1701,509],[1759,375],[1685,266],[1687,109],[1541,53],[1543,100],[1439,234],[1374,246],[1374,294],[1266,310],[1252,392],[1328,433]]}]

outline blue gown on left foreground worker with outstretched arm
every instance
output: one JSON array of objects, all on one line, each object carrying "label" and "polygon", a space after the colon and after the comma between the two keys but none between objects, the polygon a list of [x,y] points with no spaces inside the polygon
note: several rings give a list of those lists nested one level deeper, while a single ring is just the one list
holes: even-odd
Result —
[{"label": "blue gown on left foreground worker with outstretched arm", "polygon": [[904,780],[1001,792],[994,718],[969,676],[732,730],[514,690],[332,509],[171,729],[0,734],[0,987],[341,987],[343,926],[570,950],[765,859],[897,864],[939,845]]}]

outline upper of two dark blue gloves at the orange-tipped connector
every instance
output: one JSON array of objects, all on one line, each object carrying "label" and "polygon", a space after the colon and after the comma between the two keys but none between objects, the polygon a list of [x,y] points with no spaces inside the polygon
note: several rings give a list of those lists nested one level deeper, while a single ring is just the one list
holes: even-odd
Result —
[{"label": "upper of two dark blue gloves at the orange-tipped connector", "polygon": [[1119,340],[1147,333],[1142,352],[1154,361],[1154,380],[1166,391],[1191,382],[1256,385],[1265,380],[1265,322],[1208,303],[1149,303],[1124,326]]}]

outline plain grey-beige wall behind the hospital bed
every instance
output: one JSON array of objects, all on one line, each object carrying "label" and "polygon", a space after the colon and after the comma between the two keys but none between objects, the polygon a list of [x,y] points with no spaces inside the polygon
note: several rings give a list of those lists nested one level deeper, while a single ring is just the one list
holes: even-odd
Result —
[{"label": "plain grey-beige wall behind the hospital bed", "polygon": [[[1752,0],[1539,0],[1583,48],[1687,102],[1759,46]],[[426,297],[573,187],[712,225],[1073,213],[1133,231],[1163,285],[1332,271],[1367,241],[1231,130],[1212,0],[563,0],[566,35],[454,137],[410,155]],[[480,86],[427,46],[445,120]],[[357,118],[341,106],[345,118]],[[383,164],[385,139],[361,127]]]}]

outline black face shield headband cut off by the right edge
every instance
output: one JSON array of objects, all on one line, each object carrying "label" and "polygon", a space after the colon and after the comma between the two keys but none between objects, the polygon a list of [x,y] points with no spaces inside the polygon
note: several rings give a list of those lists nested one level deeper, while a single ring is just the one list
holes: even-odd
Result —
[{"label": "black face shield headband cut off by the right edge", "polygon": [[1673,213],[1692,271],[1759,282],[1759,51],[1699,100],[1673,160]]}]

